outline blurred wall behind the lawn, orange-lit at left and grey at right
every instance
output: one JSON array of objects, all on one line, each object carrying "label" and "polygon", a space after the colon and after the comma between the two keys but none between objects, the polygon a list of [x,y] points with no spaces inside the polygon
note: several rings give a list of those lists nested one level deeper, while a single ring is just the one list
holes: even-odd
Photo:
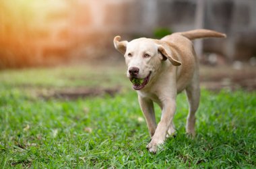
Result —
[{"label": "blurred wall behind the lawn, orange-lit at left and grey at right", "polygon": [[[203,28],[227,34],[204,40],[203,51],[232,60],[256,56],[256,1],[205,0],[0,1],[0,68],[41,65],[70,58],[118,57],[113,36],[152,37]],[[198,21],[201,19],[201,21]]]}]

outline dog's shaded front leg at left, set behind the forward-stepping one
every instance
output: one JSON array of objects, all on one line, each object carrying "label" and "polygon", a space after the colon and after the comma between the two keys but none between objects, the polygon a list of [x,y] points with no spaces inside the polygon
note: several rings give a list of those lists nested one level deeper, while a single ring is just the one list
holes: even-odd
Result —
[{"label": "dog's shaded front leg at left, set behind the forward-stepping one", "polygon": [[150,131],[150,136],[152,137],[156,131],[156,117],[154,112],[154,104],[150,99],[139,97],[139,105],[141,111],[146,119],[148,130]]}]

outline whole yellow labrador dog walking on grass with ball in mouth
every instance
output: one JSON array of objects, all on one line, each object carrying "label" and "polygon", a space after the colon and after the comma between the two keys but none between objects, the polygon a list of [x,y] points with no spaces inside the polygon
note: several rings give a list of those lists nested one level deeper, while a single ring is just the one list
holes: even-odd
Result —
[{"label": "whole yellow labrador dog walking on grass with ball in mouth", "polygon": [[[161,40],[139,38],[131,42],[114,38],[115,48],[124,54],[127,76],[137,91],[139,105],[152,137],[147,148],[155,153],[158,145],[175,131],[172,119],[176,97],[185,90],[189,101],[186,131],[195,135],[195,111],[199,106],[199,62],[191,40],[197,38],[225,38],[212,30],[177,32]],[[153,102],[162,109],[158,125]]]}]

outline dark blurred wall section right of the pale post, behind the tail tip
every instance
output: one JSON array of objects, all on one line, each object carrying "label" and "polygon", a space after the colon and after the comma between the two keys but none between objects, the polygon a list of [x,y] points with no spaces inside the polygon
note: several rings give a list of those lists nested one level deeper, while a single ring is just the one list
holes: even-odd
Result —
[{"label": "dark blurred wall section right of the pale post, behind the tail tip", "polygon": [[[224,42],[205,41],[205,48],[214,46],[230,60],[248,60],[256,56],[256,1],[210,1],[205,7],[205,28],[226,32]],[[218,49],[217,49],[218,48]]]}]

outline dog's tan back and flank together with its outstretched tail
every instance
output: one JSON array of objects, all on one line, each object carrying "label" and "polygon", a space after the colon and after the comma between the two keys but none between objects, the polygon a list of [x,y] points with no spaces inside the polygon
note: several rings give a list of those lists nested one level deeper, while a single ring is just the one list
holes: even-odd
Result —
[{"label": "dog's tan back and flank together with its outstretched tail", "polygon": [[[172,51],[177,53],[181,66],[177,67],[178,92],[183,91],[191,82],[194,73],[198,74],[198,60],[191,40],[197,38],[225,38],[226,35],[212,30],[191,30],[188,32],[177,32],[165,36],[160,41],[167,42]],[[181,76],[182,74],[182,76]]]}]

